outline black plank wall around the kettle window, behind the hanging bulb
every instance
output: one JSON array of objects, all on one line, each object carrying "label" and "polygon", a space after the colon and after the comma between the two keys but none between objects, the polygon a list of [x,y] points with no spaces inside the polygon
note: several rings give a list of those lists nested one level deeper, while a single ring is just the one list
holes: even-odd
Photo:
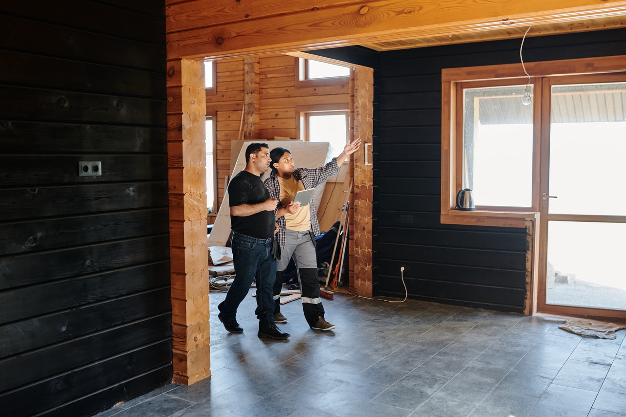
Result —
[{"label": "black plank wall around the kettle window, behind the hanging bulb", "polygon": [[[404,266],[413,298],[523,311],[525,231],[439,223],[441,69],[519,63],[520,43],[511,39],[381,53],[374,294],[404,297]],[[626,29],[614,29],[528,38],[523,56],[530,62],[623,51]]]}]

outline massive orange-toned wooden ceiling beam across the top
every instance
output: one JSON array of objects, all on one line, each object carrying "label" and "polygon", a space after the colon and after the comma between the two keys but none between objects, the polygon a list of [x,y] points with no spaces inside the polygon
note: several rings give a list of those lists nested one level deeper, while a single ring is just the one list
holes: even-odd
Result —
[{"label": "massive orange-toned wooden ceiling beam across the top", "polygon": [[170,3],[166,9],[168,59],[232,58],[626,16],[626,0]]}]

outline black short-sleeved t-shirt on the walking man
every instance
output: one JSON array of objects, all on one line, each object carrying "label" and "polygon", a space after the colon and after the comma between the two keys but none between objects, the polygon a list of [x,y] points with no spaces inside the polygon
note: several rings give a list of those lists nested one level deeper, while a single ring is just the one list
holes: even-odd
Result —
[{"label": "black short-sleeved t-shirt on the walking man", "polygon": [[[260,177],[247,171],[240,171],[228,184],[228,200],[230,207],[241,204],[262,203],[270,198]],[[274,235],[274,210],[263,210],[250,216],[230,215],[230,227],[250,237],[269,239]]]}]

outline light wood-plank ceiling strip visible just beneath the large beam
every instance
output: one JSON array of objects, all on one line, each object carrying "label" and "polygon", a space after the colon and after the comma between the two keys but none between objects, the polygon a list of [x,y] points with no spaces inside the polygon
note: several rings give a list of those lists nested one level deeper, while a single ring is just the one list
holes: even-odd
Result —
[{"label": "light wood-plank ceiling strip visible just beneath the large beam", "polygon": [[[610,16],[606,18],[559,21],[557,23],[537,24],[531,26],[527,37],[544,36],[562,33],[575,33],[603,29],[626,27],[626,16]],[[472,31],[464,33],[441,33],[432,36],[402,38],[397,40],[372,41],[361,45],[374,51],[393,51],[396,49],[424,48],[426,46],[446,45],[454,43],[470,43],[493,41],[500,39],[522,38],[528,26],[511,26],[503,21],[501,29]]]}]

